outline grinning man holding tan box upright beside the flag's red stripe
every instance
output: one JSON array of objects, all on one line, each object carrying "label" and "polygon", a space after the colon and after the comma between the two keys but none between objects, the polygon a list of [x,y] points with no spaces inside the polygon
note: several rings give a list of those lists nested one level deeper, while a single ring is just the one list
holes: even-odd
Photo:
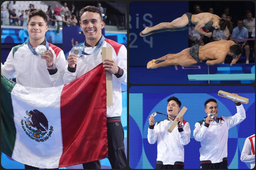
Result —
[{"label": "grinning man holding tan box upright beside the flag's red stripe", "polygon": [[[67,57],[68,66],[64,82],[69,83],[102,63],[101,47],[112,47],[112,59],[105,59],[103,67],[112,74],[113,106],[107,106],[108,159],[112,169],[126,167],[124,149],[124,129],[121,123],[122,92],[121,84],[127,84],[127,50],[124,45],[104,38],[104,27],[99,8],[87,6],[80,10],[80,28],[85,35],[82,51],[90,55]],[[84,169],[100,169],[100,161],[83,163]]]}]

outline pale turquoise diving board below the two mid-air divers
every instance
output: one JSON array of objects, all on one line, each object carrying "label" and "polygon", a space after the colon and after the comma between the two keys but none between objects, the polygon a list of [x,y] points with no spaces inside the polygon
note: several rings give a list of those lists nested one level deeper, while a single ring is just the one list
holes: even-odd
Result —
[{"label": "pale turquoise diving board below the two mid-air divers", "polygon": [[191,74],[189,81],[202,80],[255,80],[255,74]]}]

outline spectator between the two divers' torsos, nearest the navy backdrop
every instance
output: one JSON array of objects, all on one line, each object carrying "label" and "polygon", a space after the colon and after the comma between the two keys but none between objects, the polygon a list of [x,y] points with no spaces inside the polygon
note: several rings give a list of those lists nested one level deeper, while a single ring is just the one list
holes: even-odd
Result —
[{"label": "spectator between the two divers' torsos, nearest the navy backdrop", "polygon": [[192,47],[195,44],[199,44],[200,46],[204,46],[203,36],[199,32],[195,30],[195,25],[189,27],[189,47]]}]

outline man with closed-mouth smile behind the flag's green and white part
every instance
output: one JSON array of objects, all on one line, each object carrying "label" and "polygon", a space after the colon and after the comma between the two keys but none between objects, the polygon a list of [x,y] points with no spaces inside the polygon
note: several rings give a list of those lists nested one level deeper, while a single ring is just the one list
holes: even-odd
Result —
[{"label": "man with closed-mouth smile behind the flag's green and white part", "polygon": [[[29,41],[12,48],[6,62],[1,66],[2,75],[12,78],[16,73],[17,83],[27,87],[46,88],[63,84],[65,55],[59,47],[46,41],[47,22],[48,16],[41,9],[29,13]],[[34,48],[41,44],[47,50],[40,56]],[[25,169],[39,168],[25,165]]]}]

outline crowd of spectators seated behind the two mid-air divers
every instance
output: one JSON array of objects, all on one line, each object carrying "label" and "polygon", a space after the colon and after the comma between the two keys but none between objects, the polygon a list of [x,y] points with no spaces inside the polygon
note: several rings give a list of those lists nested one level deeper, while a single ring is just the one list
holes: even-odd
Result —
[{"label": "crowd of spectators seated behind the two mid-air divers", "polygon": [[[199,5],[194,6],[194,14],[202,12],[203,11]],[[215,14],[212,7],[209,8],[207,12]],[[249,63],[249,60],[254,58],[255,55],[255,40],[246,40],[246,38],[255,38],[255,18],[252,18],[252,12],[247,10],[244,16],[241,16],[234,22],[232,16],[229,14],[229,7],[225,7],[220,17],[225,19],[227,22],[227,27],[230,33],[229,37],[225,37],[222,30],[214,29],[214,27],[203,27],[203,31],[212,32],[212,36],[209,38],[195,31],[195,25],[193,25],[189,28],[189,47],[192,47],[195,44],[204,46],[207,43],[222,39],[238,39],[233,41],[244,49],[244,54],[246,56],[245,63]]]}]

